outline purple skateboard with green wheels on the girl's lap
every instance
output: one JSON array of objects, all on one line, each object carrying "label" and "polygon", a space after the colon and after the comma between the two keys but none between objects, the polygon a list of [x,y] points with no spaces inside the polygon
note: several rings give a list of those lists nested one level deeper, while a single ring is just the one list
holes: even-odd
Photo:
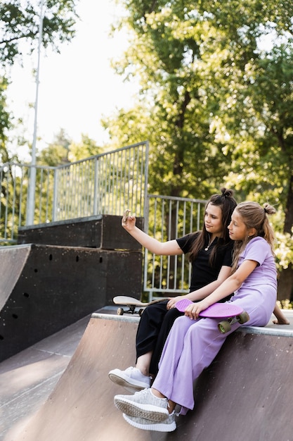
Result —
[{"label": "purple skateboard with green wheels on the girl's lap", "polygon": [[[179,300],[175,306],[178,311],[184,312],[187,306],[191,303],[193,302],[188,299],[182,299]],[[218,329],[222,334],[228,333],[231,330],[231,325],[234,323],[238,322],[242,325],[249,321],[248,313],[243,311],[240,306],[232,303],[214,303],[207,309],[204,309],[204,311],[201,311],[199,315],[200,317],[224,318],[225,320],[218,323]]]}]

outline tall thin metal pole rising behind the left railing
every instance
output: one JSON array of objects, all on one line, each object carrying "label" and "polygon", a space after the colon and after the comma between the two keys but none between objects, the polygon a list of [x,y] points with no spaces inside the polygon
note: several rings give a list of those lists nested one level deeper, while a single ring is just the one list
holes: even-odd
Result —
[{"label": "tall thin metal pole rising behind the left railing", "polygon": [[26,225],[33,225],[34,223],[34,193],[36,187],[36,147],[37,147],[37,116],[38,116],[38,101],[39,101],[39,66],[41,58],[41,43],[43,40],[43,9],[46,0],[41,0],[40,3],[40,17],[39,17],[39,42],[38,42],[38,63],[36,76],[36,98],[34,101],[34,135],[32,139],[32,162],[30,167],[30,182],[27,190],[27,219]]}]

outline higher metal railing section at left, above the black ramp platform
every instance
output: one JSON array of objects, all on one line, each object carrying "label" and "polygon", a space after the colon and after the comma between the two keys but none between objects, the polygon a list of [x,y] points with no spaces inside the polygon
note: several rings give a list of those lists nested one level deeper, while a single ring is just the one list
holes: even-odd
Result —
[{"label": "higher metal railing section at left, above the black ramp platform", "polygon": [[[98,214],[120,215],[127,206],[145,216],[148,142],[64,166],[36,168],[33,225]],[[0,167],[0,244],[16,242],[28,225],[27,194],[32,166]]]}]

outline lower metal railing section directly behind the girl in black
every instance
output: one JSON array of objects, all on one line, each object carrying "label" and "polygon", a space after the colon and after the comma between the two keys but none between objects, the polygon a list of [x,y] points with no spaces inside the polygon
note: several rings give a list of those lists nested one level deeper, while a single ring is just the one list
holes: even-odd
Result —
[{"label": "lower metal railing section directly behind the girl in black", "polygon": [[[145,231],[159,242],[177,239],[202,229],[207,201],[148,194]],[[189,291],[191,266],[185,255],[156,256],[145,249],[143,292],[148,301]],[[161,294],[160,296],[158,294]]]}]

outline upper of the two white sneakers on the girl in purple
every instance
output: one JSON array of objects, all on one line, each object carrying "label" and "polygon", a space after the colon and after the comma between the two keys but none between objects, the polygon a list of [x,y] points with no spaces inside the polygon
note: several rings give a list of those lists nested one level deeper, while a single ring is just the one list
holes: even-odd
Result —
[{"label": "upper of the two white sneakers on the girl in purple", "polygon": [[158,398],[150,389],[141,390],[134,395],[115,395],[114,404],[128,416],[140,416],[161,422],[169,417],[167,398]]}]

